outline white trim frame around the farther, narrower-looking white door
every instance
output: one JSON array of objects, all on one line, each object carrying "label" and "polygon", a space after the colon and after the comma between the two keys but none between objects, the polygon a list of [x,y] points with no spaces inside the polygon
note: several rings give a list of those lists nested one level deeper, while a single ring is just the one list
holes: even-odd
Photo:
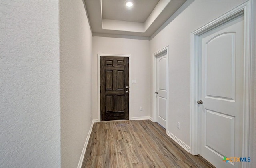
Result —
[{"label": "white trim frame around the farther, narrower-looking white door", "polygon": [[156,122],[156,61],[157,56],[160,54],[167,52],[167,107],[166,107],[166,134],[168,132],[168,111],[169,111],[169,45],[164,47],[162,50],[159,50],[158,52],[155,52],[152,56],[153,59],[153,90],[152,90],[152,109],[153,109],[153,122]]}]

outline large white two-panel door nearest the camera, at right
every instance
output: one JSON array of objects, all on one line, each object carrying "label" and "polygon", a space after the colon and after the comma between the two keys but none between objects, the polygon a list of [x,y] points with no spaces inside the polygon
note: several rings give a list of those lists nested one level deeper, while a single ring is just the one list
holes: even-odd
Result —
[{"label": "large white two-panel door nearest the camera, at right", "polygon": [[242,157],[244,16],[202,34],[199,42],[199,154],[216,167],[242,167],[223,158]]}]

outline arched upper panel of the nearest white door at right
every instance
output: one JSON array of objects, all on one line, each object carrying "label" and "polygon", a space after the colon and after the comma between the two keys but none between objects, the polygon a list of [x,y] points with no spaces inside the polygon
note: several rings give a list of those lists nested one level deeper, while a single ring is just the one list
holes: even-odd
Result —
[{"label": "arched upper panel of the nearest white door at right", "polygon": [[235,40],[236,34],[227,32],[206,42],[207,80],[205,87],[208,97],[234,100]]}]

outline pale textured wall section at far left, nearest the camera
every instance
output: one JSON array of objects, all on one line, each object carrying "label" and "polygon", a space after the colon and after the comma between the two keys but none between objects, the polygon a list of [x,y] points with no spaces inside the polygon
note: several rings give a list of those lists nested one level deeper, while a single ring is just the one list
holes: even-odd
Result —
[{"label": "pale textured wall section at far left, nearest the camera", "polygon": [[60,167],[57,1],[1,1],[1,167]]}]

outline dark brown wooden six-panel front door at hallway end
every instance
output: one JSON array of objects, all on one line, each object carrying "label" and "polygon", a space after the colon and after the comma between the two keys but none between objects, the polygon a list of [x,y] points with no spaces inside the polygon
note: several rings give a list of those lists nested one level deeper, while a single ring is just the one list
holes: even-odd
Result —
[{"label": "dark brown wooden six-panel front door at hallway end", "polygon": [[100,57],[100,118],[129,119],[128,57]]}]

